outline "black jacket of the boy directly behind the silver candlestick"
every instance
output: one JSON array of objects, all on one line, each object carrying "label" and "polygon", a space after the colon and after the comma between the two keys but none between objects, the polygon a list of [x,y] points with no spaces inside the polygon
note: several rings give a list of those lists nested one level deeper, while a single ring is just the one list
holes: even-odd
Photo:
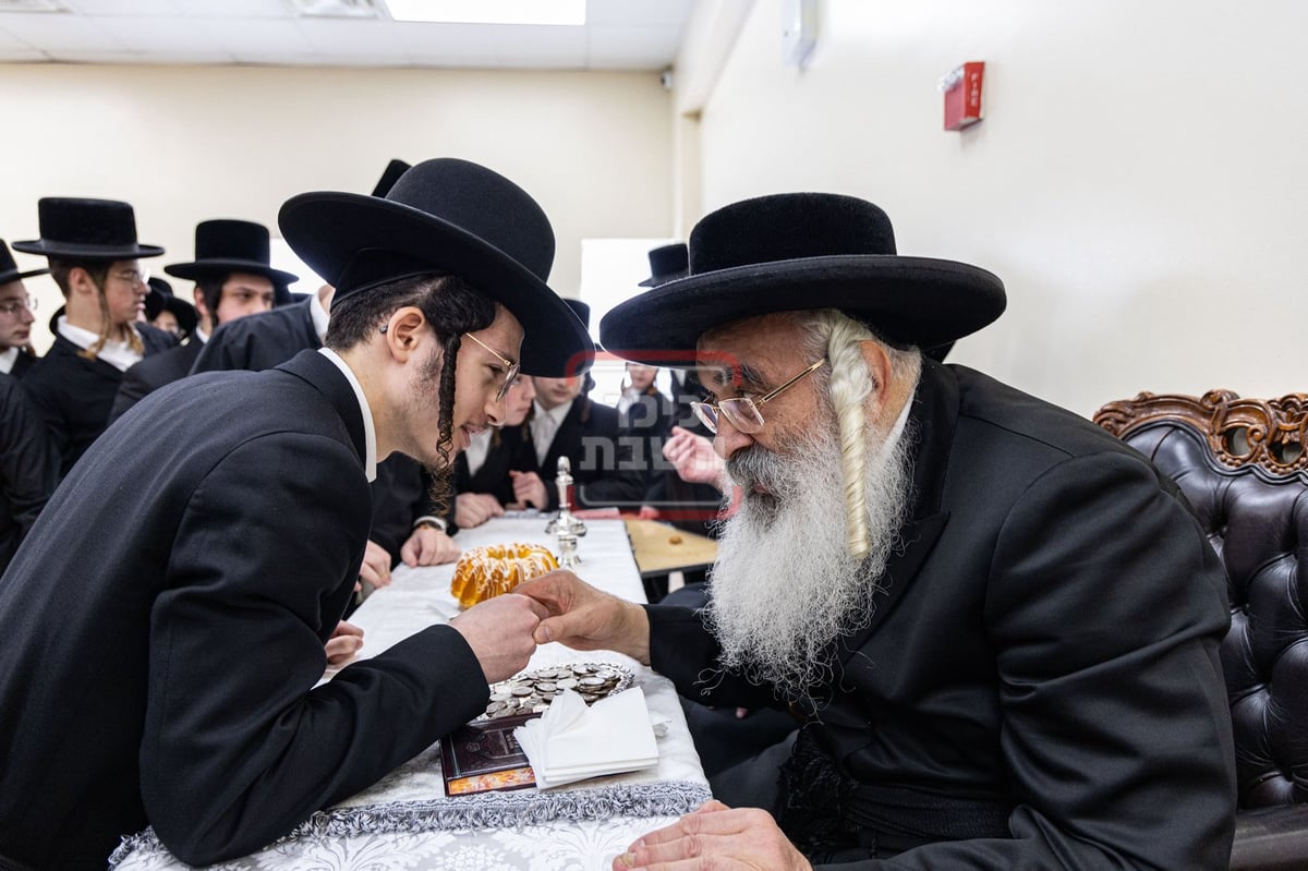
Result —
[{"label": "black jacket of the boy directly behind the silver candlestick", "polygon": [[[573,507],[607,507],[616,505],[625,510],[636,510],[645,496],[645,484],[640,470],[634,468],[630,449],[619,438],[617,409],[593,401],[581,395],[573,400],[572,408],[549,442],[545,462],[536,459],[536,447],[531,441],[531,418],[535,408],[527,415],[522,426],[517,428],[513,468],[521,472],[536,472],[545,484],[549,497],[549,510],[559,507],[559,488],[555,477],[559,475],[559,458],[568,456],[572,463],[572,476],[577,493]],[[509,430],[505,428],[505,435]]]}]

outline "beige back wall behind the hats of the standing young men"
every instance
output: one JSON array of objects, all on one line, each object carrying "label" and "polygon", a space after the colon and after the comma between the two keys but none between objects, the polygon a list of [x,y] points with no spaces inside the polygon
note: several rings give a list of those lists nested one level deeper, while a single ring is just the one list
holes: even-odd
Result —
[{"label": "beige back wall behind the hats of the standing young men", "polygon": [[[294,194],[368,194],[392,157],[463,157],[544,207],[551,285],[574,297],[582,238],[668,233],[670,99],[657,73],[0,65],[0,238],[35,238],[42,196],[124,199],[139,238],[167,248],[150,262],[162,267],[191,259],[204,218],[276,234]],[[59,293],[48,279],[29,286],[43,349]]]}]

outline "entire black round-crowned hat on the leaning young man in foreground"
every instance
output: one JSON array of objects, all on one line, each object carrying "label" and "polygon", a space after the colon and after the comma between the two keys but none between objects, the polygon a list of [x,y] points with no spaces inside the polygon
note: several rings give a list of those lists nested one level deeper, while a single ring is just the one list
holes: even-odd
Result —
[{"label": "entire black round-crowned hat on the leaning young man in foreground", "polygon": [[521,187],[458,158],[417,163],[386,197],[319,191],[293,196],[277,224],[309,267],[336,288],[335,309],[396,279],[446,272],[504,305],[522,324],[522,371],[576,375],[593,349],[586,326],[545,281],[549,218]]}]

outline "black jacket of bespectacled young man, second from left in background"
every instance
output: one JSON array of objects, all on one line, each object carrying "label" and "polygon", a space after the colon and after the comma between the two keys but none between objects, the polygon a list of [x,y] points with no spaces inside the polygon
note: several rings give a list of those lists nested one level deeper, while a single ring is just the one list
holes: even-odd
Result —
[{"label": "black jacket of bespectacled young man, second from left in background", "polygon": [[[146,357],[177,347],[177,336],[170,332],[143,323],[136,324],[136,331]],[[123,382],[122,370],[103,360],[78,357],[80,350],[56,333],[50,350],[22,379],[59,453],[61,476],[109,426],[109,413]]]}]

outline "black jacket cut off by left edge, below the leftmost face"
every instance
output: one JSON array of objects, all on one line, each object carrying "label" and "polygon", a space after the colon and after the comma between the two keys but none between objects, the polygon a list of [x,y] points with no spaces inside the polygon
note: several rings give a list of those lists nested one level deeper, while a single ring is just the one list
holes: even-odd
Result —
[{"label": "black jacket cut off by left edge, below the leftmost face", "polygon": [[44,424],[18,379],[0,374],[0,573],[37,522],[58,475]]}]

